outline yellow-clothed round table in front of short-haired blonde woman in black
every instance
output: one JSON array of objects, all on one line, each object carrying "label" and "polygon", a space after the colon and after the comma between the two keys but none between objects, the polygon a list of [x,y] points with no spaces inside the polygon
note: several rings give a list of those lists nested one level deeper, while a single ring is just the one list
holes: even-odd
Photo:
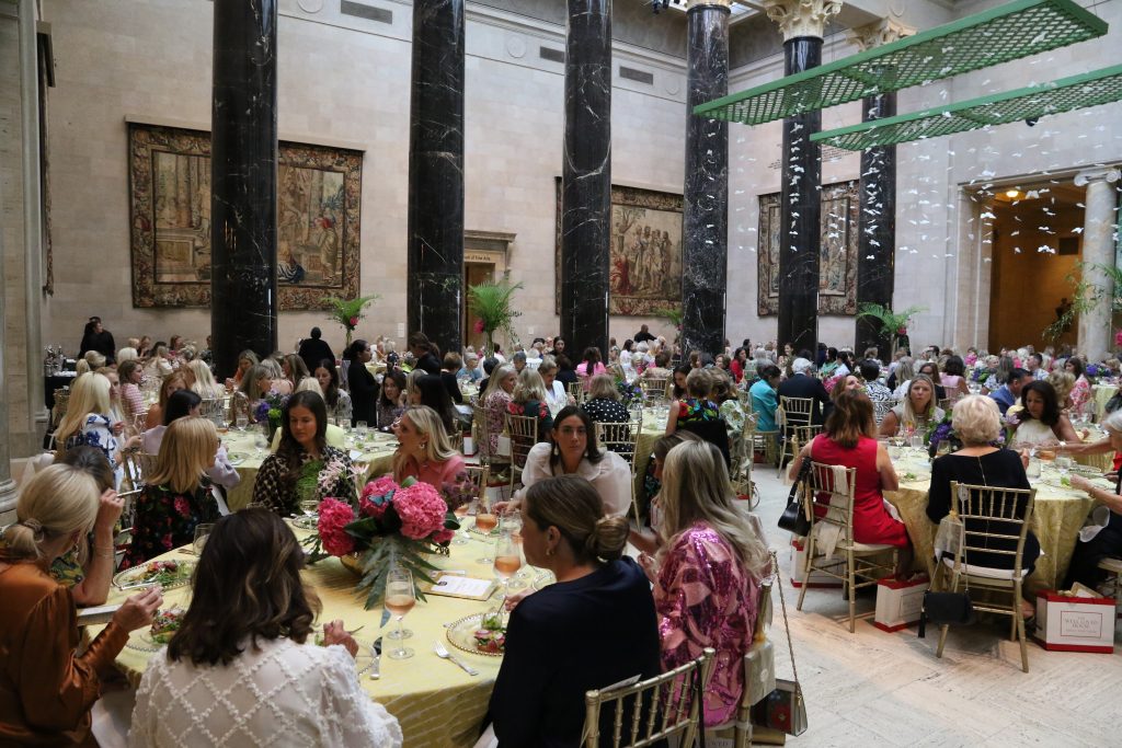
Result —
[{"label": "yellow-clothed round table in front of short-haired blonde woman in black", "polygon": [[[927,453],[920,455],[904,449],[892,464],[900,477],[900,489],[885,491],[884,498],[896,508],[900,519],[907,526],[908,536],[916,548],[917,562],[926,562],[928,572],[934,574],[934,543],[938,525],[927,516],[927,493],[931,486]],[[1059,473],[1051,465],[1046,465],[1040,478],[1030,479],[1032,487],[1037,489],[1030,527],[1043,552],[1037,560],[1036,570],[1026,580],[1026,589],[1033,593],[1038,590],[1056,590],[1064,583],[1079,528],[1095,506],[1094,499],[1083,491],[1060,486]],[[1102,478],[1095,480],[1103,488],[1113,489],[1110,481]]]}]

